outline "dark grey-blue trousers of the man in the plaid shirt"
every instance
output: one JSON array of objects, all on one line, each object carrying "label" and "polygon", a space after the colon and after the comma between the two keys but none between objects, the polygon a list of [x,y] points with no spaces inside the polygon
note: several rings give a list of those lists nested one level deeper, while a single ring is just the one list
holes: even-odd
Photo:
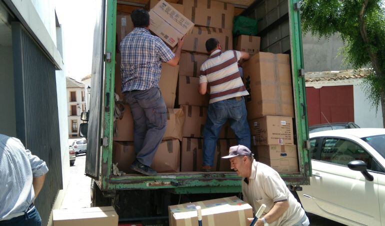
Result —
[{"label": "dark grey-blue trousers of the man in the plaid shirt", "polygon": [[136,160],[151,166],[167,124],[167,108],[159,88],[125,92],[134,122]]}]

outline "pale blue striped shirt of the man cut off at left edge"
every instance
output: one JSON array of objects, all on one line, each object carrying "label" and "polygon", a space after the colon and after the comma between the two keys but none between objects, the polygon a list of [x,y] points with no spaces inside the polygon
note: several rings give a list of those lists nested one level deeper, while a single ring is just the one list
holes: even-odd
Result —
[{"label": "pale blue striped shirt of the man cut off at left edge", "polygon": [[47,172],[45,162],[18,139],[0,134],[0,221],[27,210],[34,200],[33,177]]}]

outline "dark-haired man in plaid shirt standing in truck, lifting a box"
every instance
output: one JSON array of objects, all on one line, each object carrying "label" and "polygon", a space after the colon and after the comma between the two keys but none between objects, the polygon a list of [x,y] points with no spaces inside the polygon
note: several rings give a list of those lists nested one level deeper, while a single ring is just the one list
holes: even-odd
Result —
[{"label": "dark-haired man in plaid shirt standing in truck, lifting a box", "polygon": [[133,145],[136,159],[132,170],[155,176],[150,168],[166,130],[166,106],[159,90],[161,62],[176,66],[183,39],[175,54],[157,36],[148,31],[149,14],[144,9],[131,13],[134,29],[120,42],[121,92],[131,108],[134,121]]}]

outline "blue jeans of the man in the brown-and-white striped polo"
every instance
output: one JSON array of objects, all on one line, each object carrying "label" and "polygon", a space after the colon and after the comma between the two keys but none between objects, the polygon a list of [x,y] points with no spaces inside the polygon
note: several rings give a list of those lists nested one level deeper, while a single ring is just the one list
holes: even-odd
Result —
[{"label": "blue jeans of the man in the brown-and-white striped polo", "polygon": [[206,124],[203,129],[203,166],[213,166],[215,146],[221,127],[229,120],[238,144],[250,149],[251,136],[247,123],[247,111],[243,97],[227,99],[208,105]]}]

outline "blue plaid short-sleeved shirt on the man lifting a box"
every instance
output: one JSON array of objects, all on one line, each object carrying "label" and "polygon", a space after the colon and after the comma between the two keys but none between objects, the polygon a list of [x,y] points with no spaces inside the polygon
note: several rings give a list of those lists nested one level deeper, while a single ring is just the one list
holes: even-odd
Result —
[{"label": "blue plaid short-sleeved shirt on the man lifting a box", "polygon": [[120,42],[121,92],[159,87],[161,62],[174,53],[157,36],[136,27]]}]

